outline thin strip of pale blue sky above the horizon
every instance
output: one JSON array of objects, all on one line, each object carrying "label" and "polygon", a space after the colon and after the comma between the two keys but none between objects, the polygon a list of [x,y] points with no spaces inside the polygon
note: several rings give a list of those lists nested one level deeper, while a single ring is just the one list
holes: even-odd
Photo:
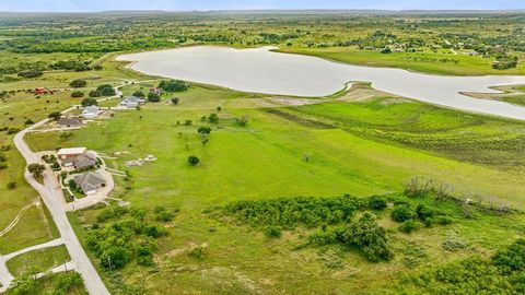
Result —
[{"label": "thin strip of pale blue sky above the horizon", "polygon": [[525,0],[0,0],[0,11],[22,12],[249,9],[509,10]]}]

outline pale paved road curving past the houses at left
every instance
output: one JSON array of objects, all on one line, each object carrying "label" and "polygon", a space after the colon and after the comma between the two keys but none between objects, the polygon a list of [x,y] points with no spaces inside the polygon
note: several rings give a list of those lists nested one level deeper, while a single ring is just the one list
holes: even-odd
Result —
[{"label": "pale paved road curving past the houses at left", "polygon": [[[75,109],[77,107],[71,107],[63,113],[70,111]],[[20,153],[25,157],[28,164],[31,163],[38,163],[38,156],[31,151],[27,146],[27,143],[24,141],[24,135],[33,128],[40,127],[48,122],[49,119],[42,120],[32,127],[28,127],[14,137],[14,145],[20,151]],[[57,188],[55,181],[52,181],[52,173],[47,169],[44,173],[44,186],[37,182],[31,173],[25,170],[24,177],[30,182],[30,185],[40,194],[44,203],[49,209],[49,212],[52,215],[52,220],[60,232],[60,236],[68,249],[69,256],[71,257],[72,262],[77,266],[77,271],[82,275],[84,280],[85,287],[88,292],[93,295],[106,295],[109,294],[106,286],[102,282],[101,276],[96,272],[95,268],[91,263],[90,258],[85,253],[82,245],[80,244],[77,235],[69,223],[69,220],[66,215],[65,208],[62,205],[61,199],[62,192]]]}]

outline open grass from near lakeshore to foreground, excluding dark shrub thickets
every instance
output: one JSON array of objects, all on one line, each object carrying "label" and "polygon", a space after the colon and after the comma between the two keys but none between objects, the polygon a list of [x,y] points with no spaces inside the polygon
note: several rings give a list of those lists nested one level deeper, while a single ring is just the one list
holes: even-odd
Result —
[{"label": "open grass from near lakeshore to foreground, excluding dark shrub thickets", "polygon": [[[130,85],[124,91],[149,86]],[[139,292],[155,293],[170,284],[183,294],[312,294],[327,290],[335,294],[345,290],[382,294],[393,290],[385,278],[401,278],[471,255],[486,257],[520,235],[518,226],[509,228],[505,224],[522,224],[522,215],[479,215],[407,236],[397,233],[384,213],[381,223],[393,228],[390,240],[398,255],[392,262],[371,264],[339,246],[298,249],[307,228],[285,232],[281,239],[270,240],[258,231],[218,221],[202,211],[236,200],[396,193],[411,176],[453,184],[458,192],[481,201],[523,208],[523,198],[518,197],[525,196],[523,166],[510,164],[521,163],[521,152],[510,146],[523,137],[523,123],[384,96],[285,107],[277,113],[256,108],[259,98],[214,87],[196,85],[174,96],[182,98],[180,105],[150,103],[141,110],[119,111],[110,120],[73,131],[67,141],[57,133],[27,138],[36,150],[81,145],[107,154],[128,152],[107,161],[110,167],[129,174],[127,179],[116,177],[113,196],[150,211],[155,205],[180,210],[166,227],[170,236],[159,241],[155,272],[148,275],[148,269],[135,264],[118,272]],[[223,106],[221,111],[215,110],[218,105]],[[219,114],[218,125],[200,121],[210,113]],[[245,128],[234,122],[234,117],[242,115],[249,116]],[[192,126],[183,126],[187,119]],[[197,133],[199,126],[212,127],[206,145]],[[454,133],[468,134],[468,144],[454,140]],[[410,140],[399,140],[398,135]],[[493,142],[502,137],[509,144],[500,151]],[[441,144],[435,146],[435,142]],[[486,146],[479,158],[467,156],[482,144]],[[125,161],[148,154],[159,160],[141,167],[124,166]],[[201,164],[189,166],[189,155],[199,156]],[[482,161],[487,157],[492,161]],[[81,237],[98,212],[70,215]],[[210,227],[217,232],[210,233]],[[470,247],[453,253],[442,249],[441,243],[451,234],[468,240]],[[188,256],[192,245],[206,245],[203,261]],[[406,260],[412,258],[405,250],[415,247],[422,248],[425,256],[417,258],[417,267],[408,268]],[[331,269],[334,263],[343,267]],[[382,275],[377,275],[380,272]],[[323,281],[316,279],[319,275]],[[106,278],[106,282],[119,288],[113,280]]]}]

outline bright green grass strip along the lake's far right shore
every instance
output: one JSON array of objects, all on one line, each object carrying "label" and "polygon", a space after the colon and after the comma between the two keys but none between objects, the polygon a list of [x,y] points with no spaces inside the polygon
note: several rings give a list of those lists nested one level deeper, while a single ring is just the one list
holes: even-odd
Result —
[{"label": "bright green grass strip along the lake's far right shore", "polygon": [[[388,55],[376,50],[358,50],[353,47],[305,48],[281,47],[280,52],[300,54],[326,58],[345,63],[369,67],[401,68],[423,73],[450,75],[486,75],[486,74],[525,74],[525,64],[515,69],[492,69],[492,58],[471,57],[467,55],[452,55],[451,52],[393,52]],[[458,60],[457,63],[441,62],[439,59]],[[425,61],[428,59],[435,61]]]}]

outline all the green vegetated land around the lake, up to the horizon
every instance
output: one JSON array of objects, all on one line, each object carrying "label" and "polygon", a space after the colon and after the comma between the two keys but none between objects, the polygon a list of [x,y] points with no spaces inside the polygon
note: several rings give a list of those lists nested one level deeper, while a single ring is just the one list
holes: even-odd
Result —
[{"label": "all the green vegetated land around the lake, up to the horizon", "polygon": [[[435,74],[525,73],[522,14],[79,17],[8,14],[0,21],[0,145],[11,146],[0,169],[0,229],[21,215],[0,236],[2,255],[59,236],[23,177],[25,163],[12,146],[15,131],[80,104],[82,98],[71,97],[73,80],[86,81],[74,90],[83,98],[106,83],[128,96],[164,81],[115,61],[120,54],[275,45]],[[101,26],[106,17],[112,25]],[[393,25],[385,30],[385,23]],[[493,67],[514,56],[516,67]],[[25,70],[42,75],[19,75]],[[35,152],[86,146],[122,172],[114,176],[108,204],[68,213],[112,294],[523,291],[520,270],[505,269],[504,258],[523,251],[516,240],[525,226],[524,122],[419,103],[365,83],[326,98],[188,85],[137,109],[112,110],[67,137],[25,138]],[[36,95],[35,87],[59,91]],[[479,95],[523,105],[524,90]],[[147,155],[156,161],[126,165]],[[198,165],[188,163],[190,156]],[[407,219],[399,217],[402,210]],[[381,255],[348,238],[363,223],[380,228],[374,234],[386,240]],[[105,260],[112,251],[121,260]],[[28,264],[48,269],[68,259],[59,246],[16,257],[8,267],[31,282],[35,270]],[[477,273],[459,273],[472,266]],[[70,281],[68,294],[85,294],[71,273],[47,275],[33,287],[44,294]],[[455,278],[443,273],[466,279],[454,285]]]}]

